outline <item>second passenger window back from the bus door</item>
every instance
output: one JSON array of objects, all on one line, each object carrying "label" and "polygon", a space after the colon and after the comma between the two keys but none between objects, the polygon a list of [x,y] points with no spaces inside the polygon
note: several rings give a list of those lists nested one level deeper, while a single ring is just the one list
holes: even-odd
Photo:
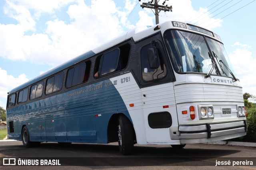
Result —
[{"label": "second passenger window back from the bus door", "polygon": [[87,82],[90,74],[91,62],[86,61],[86,63],[79,64],[68,70],[66,79],[66,88]]}]

